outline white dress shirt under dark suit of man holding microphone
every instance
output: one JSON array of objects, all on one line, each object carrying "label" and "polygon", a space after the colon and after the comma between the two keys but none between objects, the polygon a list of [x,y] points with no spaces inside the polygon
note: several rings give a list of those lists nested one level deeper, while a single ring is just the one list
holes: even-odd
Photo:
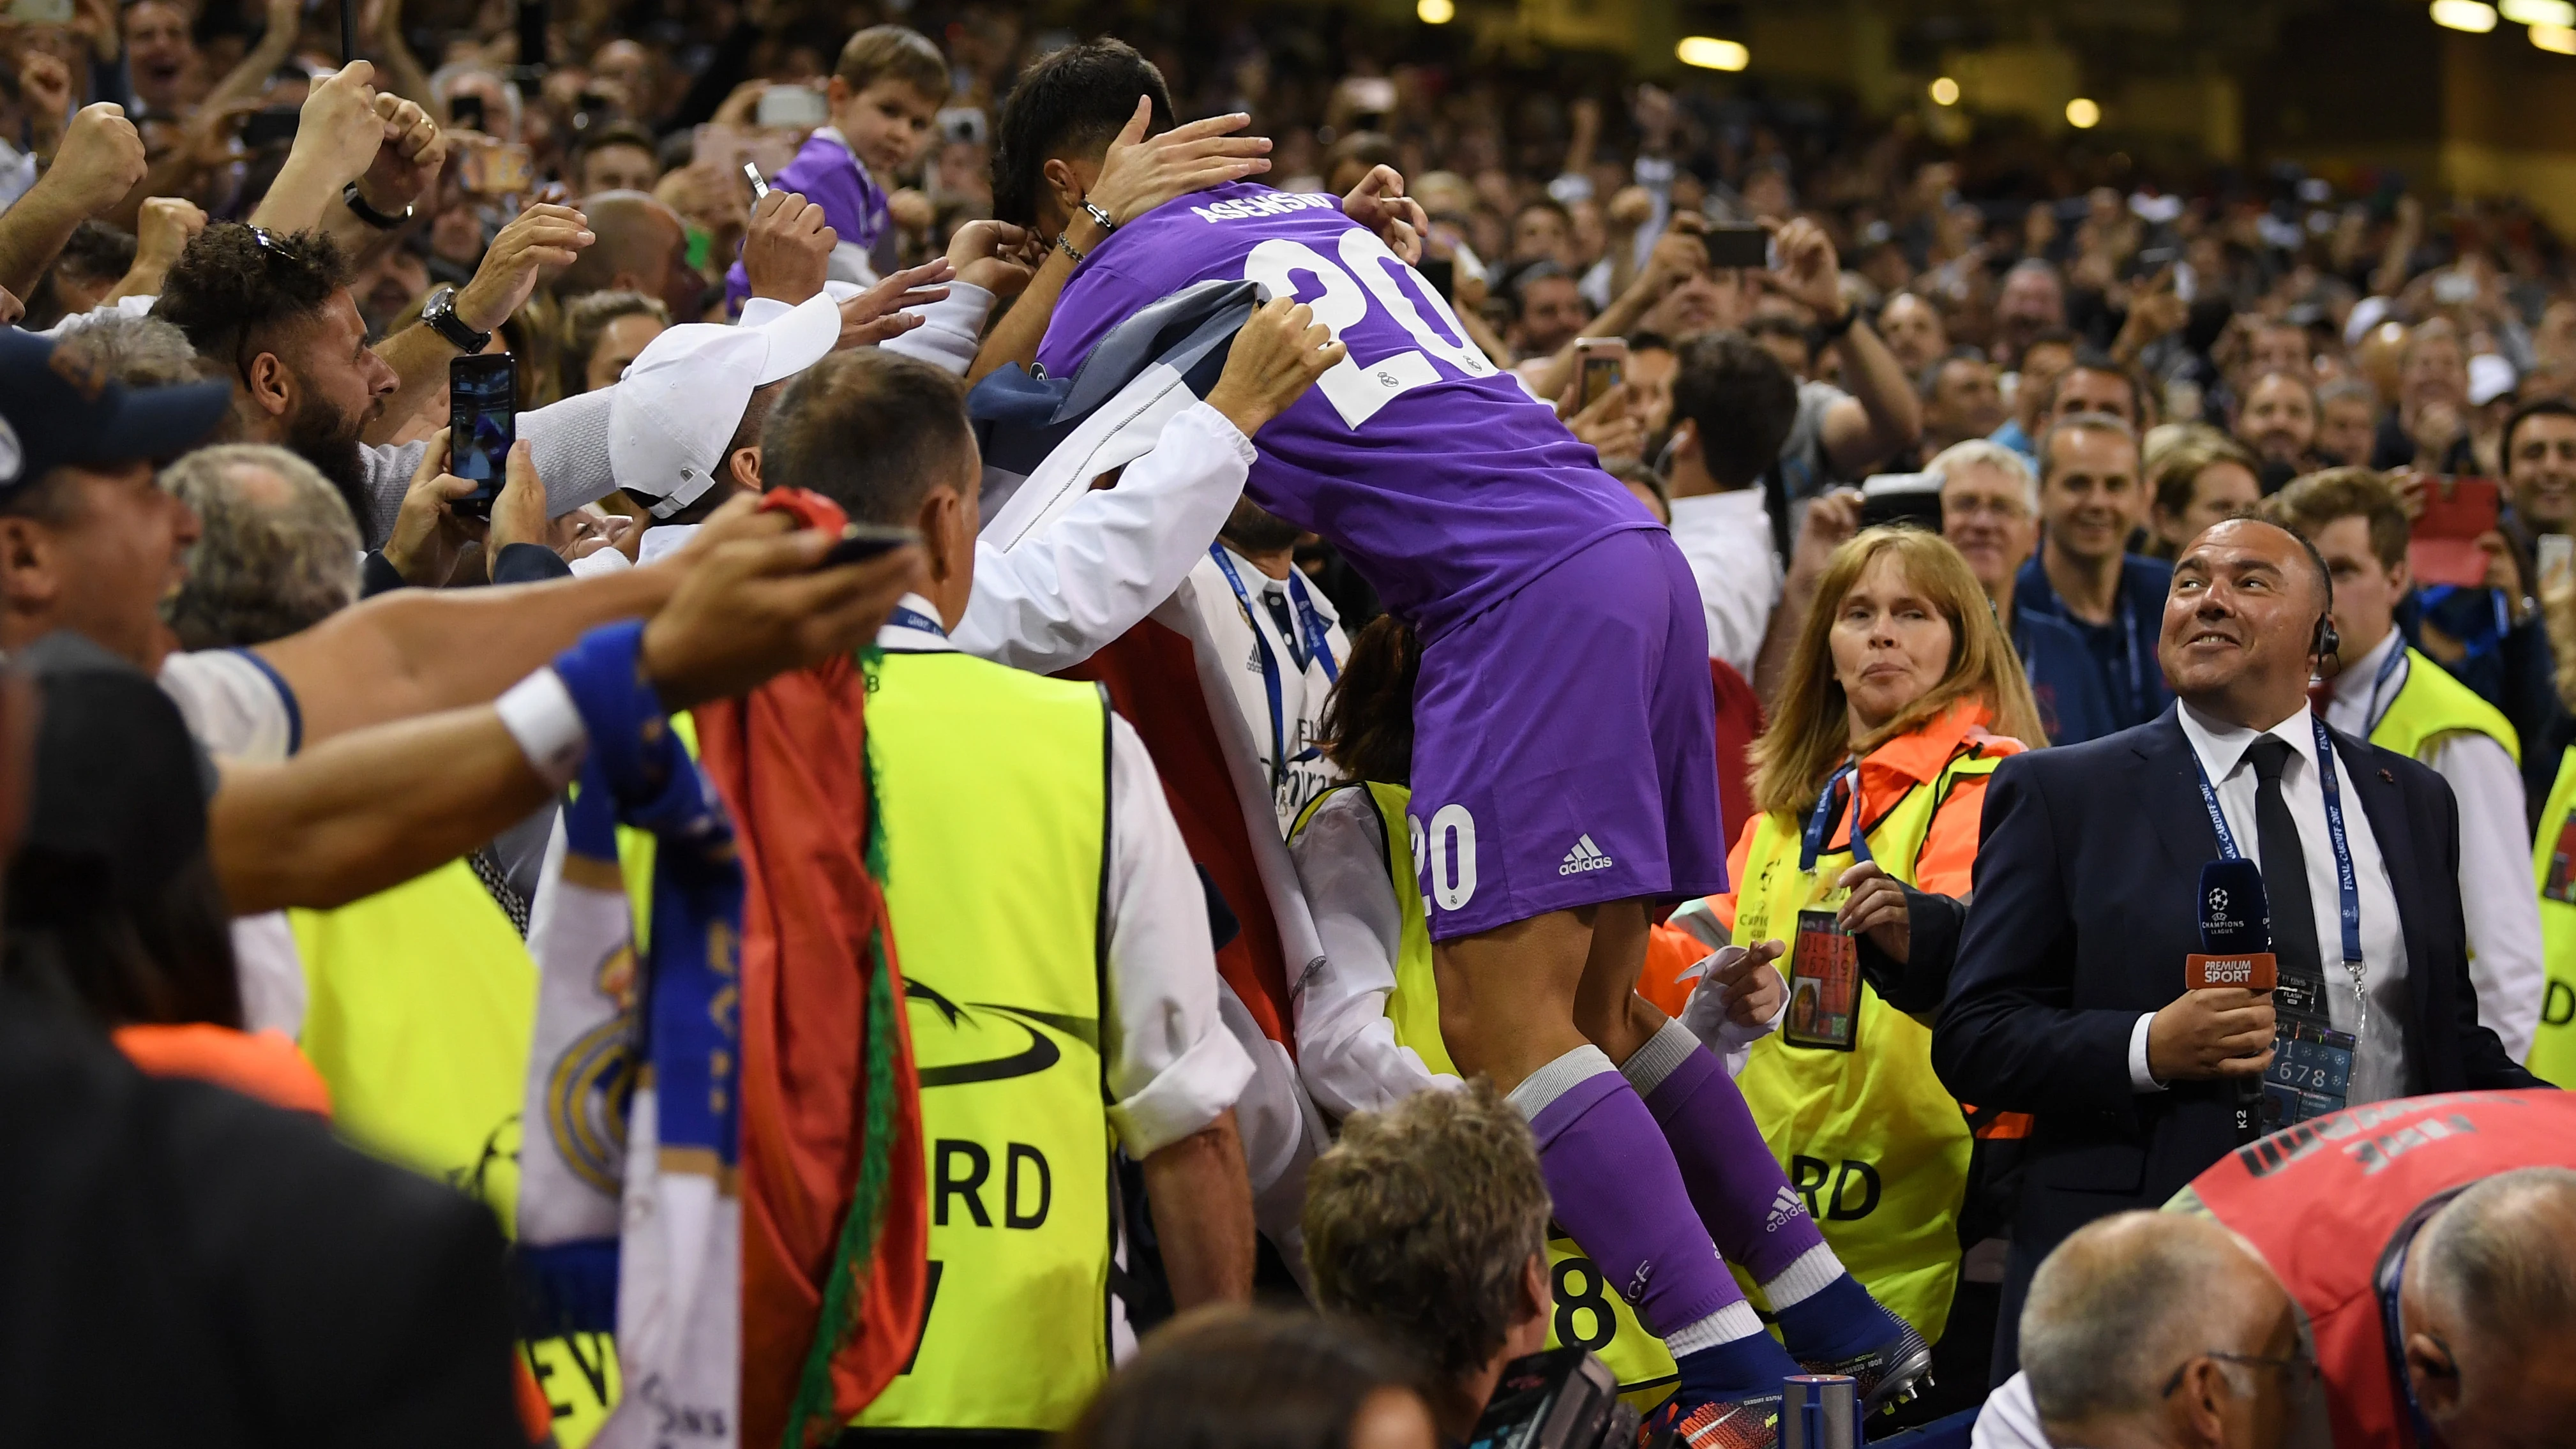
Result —
[{"label": "white dress shirt under dark suit of man holding microphone", "polygon": [[[2334,842],[2326,834],[2326,793],[2318,785],[2316,728],[2308,723],[2308,705],[2300,705],[2298,713],[2269,731],[2213,721],[2192,705],[2179,705],[2177,715],[2182,736],[2190,741],[2192,754],[2200,757],[2200,770],[2208,772],[2210,785],[2218,790],[2218,811],[2228,821],[2228,834],[2236,836],[2236,849],[2254,862],[2262,860],[2262,834],[2254,829],[2254,793],[2259,790],[2259,780],[2254,777],[2251,746],[2264,734],[2290,746],[2290,762],[2280,775],[2280,795],[2290,808],[2290,818],[2298,821],[2298,852],[2308,867],[2316,955],[2326,970],[2326,1017],[2336,1032],[2360,1037],[2352,1053],[2347,1102],[2360,1107],[2362,1102],[2406,1096],[2406,1017],[2414,1014],[2406,993],[2406,934],[2398,919],[2396,885],[2388,883],[2388,862],[2380,857],[2380,836],[2370,829],[2370,811],[2362,808],[2352,772],[2344,770],[2342,759],[2334,759],[2334,777],[2342,785],[2344,842],[2352,849],[2352,875],[2362,898],[2362,993],[2367,996],[2367,1019],[2362,1001],[2354,999],[2352,975],[2344,968],[2344,914],[2334,872]],[[2272,901],[2277,909],[2280,898],[2272,896]],[[2275,921],[2275,939],[2277,934],[2280,924]],[[2138,1017],[2138,1027],[2130,1032],[2128,1076],[2138,1091],[2164,1089],[2146,1068],[2146,1027],[2151,1019],[2154,1011]]]}]

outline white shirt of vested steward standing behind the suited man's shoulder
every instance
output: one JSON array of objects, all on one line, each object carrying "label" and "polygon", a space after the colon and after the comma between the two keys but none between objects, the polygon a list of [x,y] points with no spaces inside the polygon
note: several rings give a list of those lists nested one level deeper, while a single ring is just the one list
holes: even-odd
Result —
[{"label": "white shirt of vested steward standing behind the suited man's shoulder", "polygon": [[[2416,661],[2396,628],[2370,654],[2336,674],[2326,723],[2370,739],[2388,705],[2406,690]],[[2380,667],[2396,672],[2378,685]],[[2532,842],[2522,811],[2522,770],[2483,734],[2445,734],[2421,754],[2460,800],[2460,911],[2468,916],[2468,978],[2478,988],[2478,1022],[2496,1032],[2504,1055],[2522,1060],[2540,1029],[2540,896],[2532,891]]]}]

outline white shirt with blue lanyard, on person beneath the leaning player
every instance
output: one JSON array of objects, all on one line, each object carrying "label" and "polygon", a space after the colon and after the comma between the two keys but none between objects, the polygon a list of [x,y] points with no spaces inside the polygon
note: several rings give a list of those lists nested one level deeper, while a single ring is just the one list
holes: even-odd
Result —
[{"label": "white shirt with blue lanyard, on person beneath the leaning player", "polygon": [[[1216,548],[1226,546],[1216,543]],[[1316,749],[1316,739],[1332,677],[1350,659],[1350,638],[1342,633],[1342,615],[1314,584],[1298,579],[1301,587],[1291,589],[1288,579],[1273,579],[1234,548],[1226,548],[1226,564],[1244,584],[1244,597],[1236,600],[1234,584],[1226,582],[1226,571],[1211,553],[1190,569],[1190,600],[1208,628],[1226,682],[1234,685],[1234,703],[1244,710],[1262,777],[1270,780],[1270,806],[1278,813],[1280,834],[1288,834],[1306,800],[1342,780],[1342,772]],[[1244,602],[1252,607],[1247,610]],[[1303,625],[1309,613],[1324,631],[1332,672],[1324,669],[1324,656],[1309,649]],[[1280,690],[1275,710],[1270,700],[1273,674]],[[1278,759],[1283,746],[1285,764]]]}]

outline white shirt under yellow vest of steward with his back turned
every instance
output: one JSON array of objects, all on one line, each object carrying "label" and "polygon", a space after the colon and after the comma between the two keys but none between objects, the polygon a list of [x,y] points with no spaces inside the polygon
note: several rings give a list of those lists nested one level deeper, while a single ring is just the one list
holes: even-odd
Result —
[{"label": "white shirt under yellow vest of steward with his back turned", "polygon": [[[938,618],[920,595],[904,595],[904,607]],[[894,623],[878,631],[876,643],[912,654],[953,649],[938,633]],[[1154,759],[1118,715],[1110,715],[1103,911],[1110,957],[1110,999],[1103,1001],[1108,1114],[1118,1145],[1141,1161],[1234,1107],[1252,1081],[1252,1058],[1218,1009],[1208,898],[1198,888],[1190,847],[1180,839]]]}]

